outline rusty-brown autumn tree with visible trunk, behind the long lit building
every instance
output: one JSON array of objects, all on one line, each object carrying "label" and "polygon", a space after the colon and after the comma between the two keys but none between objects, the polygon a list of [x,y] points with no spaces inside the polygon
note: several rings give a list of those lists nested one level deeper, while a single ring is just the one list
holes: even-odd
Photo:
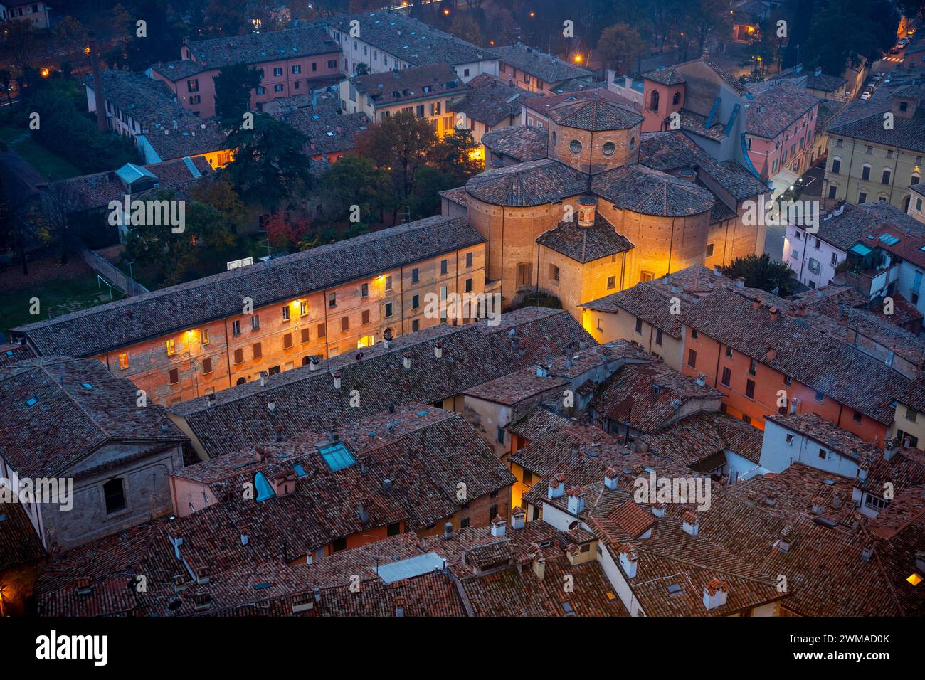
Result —
[{"label": "rusty-brown autumn tree with visible trunk, behind the long lit building", "polygon": [[357,135],[357,152],[372,159],[376,167],[388,169],[392,187],[401,199],[392,208],[393,225],[399,208],[408,204],[414,191],[418,169],[425,165],[436,144],[437,137],[426,119],[407,112],[386,117]]}]

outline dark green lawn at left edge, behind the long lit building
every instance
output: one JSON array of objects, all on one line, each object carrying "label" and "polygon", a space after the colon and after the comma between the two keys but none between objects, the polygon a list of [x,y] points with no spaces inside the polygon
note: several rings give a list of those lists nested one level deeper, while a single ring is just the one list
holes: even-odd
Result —
[{"label": "dark green lawn at left edge, behind the long lit building", "polygon": [[[10,328],[43,321],[50,316],[60,316],[108,303],[109,288],[105,284],[101,286],[102,291],[97,285],[96,274],[93,274],[53,280],[15,291],[4,291],[0,296],[0,326],[6,333]],[[122,293],[114,288],[112,299],[120,300],[122,297]],[[32,298],[39,299],[39,315],[29,313]]]}]

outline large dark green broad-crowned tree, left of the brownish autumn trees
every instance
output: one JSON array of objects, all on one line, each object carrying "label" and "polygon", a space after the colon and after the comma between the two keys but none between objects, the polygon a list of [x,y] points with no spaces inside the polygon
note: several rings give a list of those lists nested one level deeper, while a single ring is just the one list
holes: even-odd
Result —
[{"label": "large dark green broad-crowned tree, left of the brownish autumn trees", "polygon": [[230,119],[222,126],[234,149],[234,160],[222,172],[245,201],[272,212],[311,186],[302,153],[308,138],[301,131],[267,114],[253,115],[253,129]]}]

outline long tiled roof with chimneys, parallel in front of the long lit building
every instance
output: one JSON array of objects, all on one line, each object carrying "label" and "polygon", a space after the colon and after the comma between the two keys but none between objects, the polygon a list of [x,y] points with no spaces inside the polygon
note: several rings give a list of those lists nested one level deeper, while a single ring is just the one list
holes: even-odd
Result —
[{"label": "long tiled roof with chimneys, parallel in front of the long lit building", "polygon": [[[511,337],[511,331],[515,337]],[[434,344],[443,342],[443,356]],[[171,407],[182,416],[210,455],[222,455],[247,445],[274,439],[277,425],[284,438],[304,430],[327,431],[363,415],[384,411],[388,403],[434,403],[488,380],[536,365],[593,340],[573,316],[561,310],[524,308],[501,316],[499,326],[485,322],[438,326],[396,338],[389,348],[376,343],[364,350],[362,361],[341,355],[323,362],[317,371],[298,368]],[[521,354],[521,350],[524,351]],[[410,369],[403,367],[409,352]],[[339,370],[341,389],[334,389],[331,372]],[[345,395],[360,389],[362,405],[352,408]],[[266,408],[274,402],[274,411]]]}]

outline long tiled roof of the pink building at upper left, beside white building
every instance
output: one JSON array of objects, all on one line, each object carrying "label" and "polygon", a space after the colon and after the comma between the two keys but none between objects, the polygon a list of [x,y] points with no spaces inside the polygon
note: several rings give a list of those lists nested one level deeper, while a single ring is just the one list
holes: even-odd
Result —
[{"label": "long tiled roof of the pink building at upper left, beside white building", "polygon": [[340,52],[339,43],[330,38],[321,25],[193,40],[186,46],[203,68],[222,68],[240,62],[253,65]]}]

